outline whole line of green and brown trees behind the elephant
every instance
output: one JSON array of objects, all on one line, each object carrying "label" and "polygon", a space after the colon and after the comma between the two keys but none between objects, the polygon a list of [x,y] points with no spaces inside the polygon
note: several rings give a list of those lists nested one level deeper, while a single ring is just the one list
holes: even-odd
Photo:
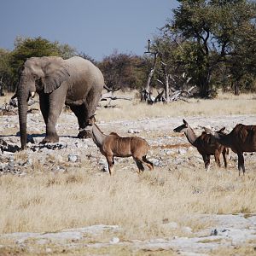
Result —
[{"label": "whole line of green and brown trees behind the elephant", "polygon": [[[256,90],[256,3],[246,0],[179,0],[159,33],[145,45],[142,55],[114,52],[102,61],[78,53],[68,44],[45,38],[16,38],[15,49],[0,48],[0,87],[15,91],[19,70],[32,56],[57,55],[67,59],[80,55],[102,70],[110,88],[143,90],[157,53],[151,86],[159,88],[169,75],[170,85],[181,77],[186,86],[196,85],[199,96],[216,91]],[[148,38],[145,38],[145,44]],[[164,67],[164,68],[163,68]]]}]

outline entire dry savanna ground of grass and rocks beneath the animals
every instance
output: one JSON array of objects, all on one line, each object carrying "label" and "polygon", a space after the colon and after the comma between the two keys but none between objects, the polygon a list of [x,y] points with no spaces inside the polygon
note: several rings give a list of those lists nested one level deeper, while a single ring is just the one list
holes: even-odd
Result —
[{"label": "entire dry savanna ground of grass and rocks beneath the animals", "polygon": [[[9,96],[0,101],[8,102]],[[202,126],[230,131],[237,123],[255,125],[255,95],[220,93],[214,100],[154,106],[138,100],[113,101],[115,108],[104,104],[96,111],[102,131],[132,136],[130,130],[148,140],[154,171],[138,175],[131,158],[118,159],[115,176],[109,177],[91,139],[75,137],[73,113],[61,113],[57,130],[67,147],[15,152],[12,160],[24,163],[19,175],[0,175],[0,254],[255,253],[255,154],[245,156],[244,177],[238,176],[232,152],[227,170],[211,158],[206,172],[201,155],[172,131],[182,119],[198,135]],[[0,136],[20,146],[18,116],[0,119]],[[27,126],[28,133],[38,134],[36,144],[43,139],[40,113],[28,114]],[[70,153],[79,161],[68,162]],[[212,230],[217,230],[214,236]]]}]

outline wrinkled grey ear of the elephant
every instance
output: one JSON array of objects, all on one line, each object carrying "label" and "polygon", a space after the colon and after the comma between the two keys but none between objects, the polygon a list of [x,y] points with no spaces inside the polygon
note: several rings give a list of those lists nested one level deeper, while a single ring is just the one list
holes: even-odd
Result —
[{"label": "wrinkled grey ear of the elephant", "polygon": [[61,86],[69,78],[67,67],[63,61],[50,61],[44,68],[44,92],[50,93]]}]

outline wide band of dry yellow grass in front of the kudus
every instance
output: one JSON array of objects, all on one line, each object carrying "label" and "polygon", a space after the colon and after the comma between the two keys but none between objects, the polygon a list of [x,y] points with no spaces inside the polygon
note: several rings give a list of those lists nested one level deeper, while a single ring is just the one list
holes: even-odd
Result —
[{"label": "wide band of dry yellow grass in front of the kudus", "polygon": [[256,177],[191,171],[156,169],[138,176],[119,170],[113,178],[86,170],[2,176],[0,233],[119,224],[124,237],[142,239],[172,235],[164,224],[169,221],[205,228],[200,219],[188,218],[195,213],[256,212]]}]

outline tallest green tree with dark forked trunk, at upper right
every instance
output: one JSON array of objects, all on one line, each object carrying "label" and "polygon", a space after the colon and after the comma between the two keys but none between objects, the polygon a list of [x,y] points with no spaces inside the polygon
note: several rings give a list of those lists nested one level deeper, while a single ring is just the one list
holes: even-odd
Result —
[{"label": "tallest green tree with dark forked trunk, at upper right", "polygon": [[[164,36],[180,41],[177,60],[186,67],[202,97],[212,89],[212,73],[230,61],[236,42],[247,37],[255,18],[255,3],[246,0],[178,0],[174,19],[167,20]],[[239,39],[238,39],[239,38]],[[238,54],[238,53],[236,53]]]}]

